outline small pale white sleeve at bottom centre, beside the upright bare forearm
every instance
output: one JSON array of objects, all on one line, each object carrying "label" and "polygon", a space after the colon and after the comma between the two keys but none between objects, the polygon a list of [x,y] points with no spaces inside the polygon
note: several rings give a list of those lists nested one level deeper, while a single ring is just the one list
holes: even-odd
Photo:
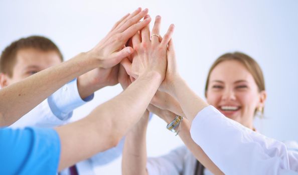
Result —
[{"label": "small pale white sleeve at bottom centre, beside the upright bare forearm", "polygon": [[186,151],[187,148],[181,146],[166,155],[148,158],[146,165],[148,175],[182,174]]}]

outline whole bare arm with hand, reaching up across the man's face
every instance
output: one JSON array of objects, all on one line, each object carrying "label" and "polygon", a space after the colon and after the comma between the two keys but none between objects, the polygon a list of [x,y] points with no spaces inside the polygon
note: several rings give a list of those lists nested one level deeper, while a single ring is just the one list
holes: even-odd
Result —
[{"label": "whole bare arm with hand, reaching up across the man's face", "polygon": [[131,54],[133,49],[123,45],[136,31],[150,22],[150,18],[138,22],[146,13],[147,9],[137,9],[125,15],[90,51],[0,89],[0,126],[14,123],[71,79],[96,67],[114,67]]}]

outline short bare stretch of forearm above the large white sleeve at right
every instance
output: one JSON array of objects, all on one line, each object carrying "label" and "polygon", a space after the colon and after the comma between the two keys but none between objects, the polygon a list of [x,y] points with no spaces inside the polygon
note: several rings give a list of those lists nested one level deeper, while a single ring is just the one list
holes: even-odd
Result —
[{"label": "short bare stretch of forearm above the large white sleeve at right", "polygon": [[190,122],[204,107],[208,106],[181,77],[177,77],[170,85],[170,94],[180,103],[180,106]]}]

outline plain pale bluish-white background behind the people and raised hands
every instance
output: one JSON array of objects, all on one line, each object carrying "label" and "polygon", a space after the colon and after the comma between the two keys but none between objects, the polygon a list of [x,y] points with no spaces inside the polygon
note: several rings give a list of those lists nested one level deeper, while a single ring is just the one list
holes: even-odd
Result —
[{"label": "plain pale bluish-white background behind the people and raised hands", "polygon": [[[179,70],[201,96],[212,62],[227,51],[243,51],[261,65],[268,98],[259,131],[279,140],[298,140],[298,1],[297,0],[1,0],[0,49],[32,34],[51,38],[66,59],[92,48],[115,21],[138,6],[162,15],[162,33],[171,23]],[[105,87],[75,110],[74,118],[121,91]],[[125,117],[125,116],[119,116]],[[148,126],[149,156],[182,144],[157,116]],[[98,174],[120,174],[120,162],[98,167]]]}]

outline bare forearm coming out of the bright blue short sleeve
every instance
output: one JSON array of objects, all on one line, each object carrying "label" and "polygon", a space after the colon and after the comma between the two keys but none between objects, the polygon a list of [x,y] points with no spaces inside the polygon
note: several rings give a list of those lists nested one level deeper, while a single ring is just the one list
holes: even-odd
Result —
[{"label": "bare forearm coming out of the bright blue short sleeve", "polygon": [[160,83],[155,72],[140,76],[87,117],[56,128],[61,139],[59,169],[115,146],[142,116]]}]

